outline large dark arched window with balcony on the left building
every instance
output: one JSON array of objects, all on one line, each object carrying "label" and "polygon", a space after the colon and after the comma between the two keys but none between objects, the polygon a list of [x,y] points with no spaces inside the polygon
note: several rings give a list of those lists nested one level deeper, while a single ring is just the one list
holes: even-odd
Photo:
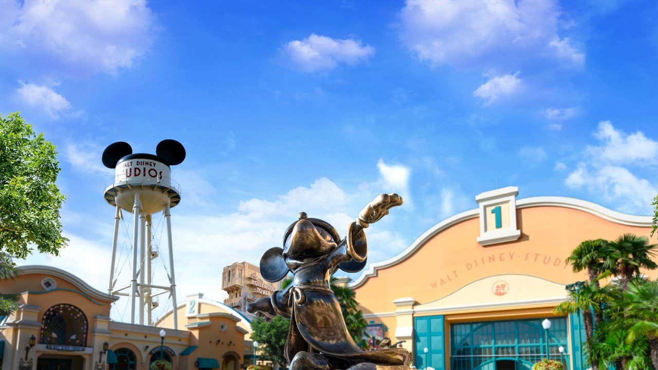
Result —
[{"label": "large dark arched window with balcony on the left building", "polygon": [[70,304],[53,305],[41,318],[41,344],[87,346],[88,321],[85,314]]}]

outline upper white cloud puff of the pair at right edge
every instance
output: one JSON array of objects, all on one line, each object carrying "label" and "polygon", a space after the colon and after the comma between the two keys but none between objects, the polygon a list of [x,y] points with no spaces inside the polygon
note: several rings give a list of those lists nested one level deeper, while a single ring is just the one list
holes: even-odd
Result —
[{"label": "upper white cloud puff of the pair at right edge", "polygon": [[603,145],[588,147],[592,155],[614,163],[655,163],[658,159],[658,142],[644,136],[642,132],[626,134],[616,130],[608,121],[599,122],[595,138]]}]

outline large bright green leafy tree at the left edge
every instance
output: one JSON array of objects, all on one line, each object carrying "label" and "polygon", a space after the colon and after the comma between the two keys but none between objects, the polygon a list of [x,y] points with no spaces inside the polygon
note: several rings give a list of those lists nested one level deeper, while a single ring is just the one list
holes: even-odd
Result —
[{"label": "large bright green leafy tree at the left edge", "polygon": [[[55,185],[59,171],[55,145],[18,113],[0,115],[0,278],[14,277],[11,258],[28,257],[32,246],[53,255],[66,246],[59,215],[64,196]],[[0,296],[0,309],[13,311],[14,302]]]}]

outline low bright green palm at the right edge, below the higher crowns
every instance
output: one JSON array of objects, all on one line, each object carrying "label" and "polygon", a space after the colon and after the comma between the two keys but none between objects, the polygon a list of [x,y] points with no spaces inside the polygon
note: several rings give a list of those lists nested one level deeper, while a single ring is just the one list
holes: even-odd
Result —
[{"label": "low bright green palm at the right edge, below the higher crowns", "polygon": [[626,339],[634,343],[638,338],[646,338],[651,362],[658,369],[658,282],[643,279],[630,282],[624,300],[632,324]]}]

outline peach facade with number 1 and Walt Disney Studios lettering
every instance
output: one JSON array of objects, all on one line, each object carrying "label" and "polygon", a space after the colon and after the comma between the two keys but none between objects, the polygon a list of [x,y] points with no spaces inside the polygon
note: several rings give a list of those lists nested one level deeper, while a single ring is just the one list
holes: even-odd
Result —
[{"label": "peach facade with number 1 and Walt Disney Studios lettering", "polygon": [[565,284],[587,279],[565,258],[583,240],[649,237],[651,217],[517,193],[479,194],[478,208],[443,220],[349,283],[375,344],[404,341],[419,369],[529,370],[547,352],[567,369],[587,368],[582,316],[553,315]]}]

